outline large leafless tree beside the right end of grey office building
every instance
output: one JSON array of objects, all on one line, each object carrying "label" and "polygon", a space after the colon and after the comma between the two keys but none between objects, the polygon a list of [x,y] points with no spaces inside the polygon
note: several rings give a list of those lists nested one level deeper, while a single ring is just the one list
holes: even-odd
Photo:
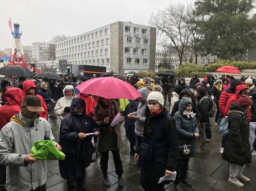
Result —
[{"label": "large leafless tree beside the right end of grey office building", "polygon": [[192,14],[191,7],[191,5],[170,4],[164,10],[159,10],[150,16],[150,24],[157,28],[164,46],[177,50],[180,65],[184,60],[183,56],[191,36],[189,22]]}]

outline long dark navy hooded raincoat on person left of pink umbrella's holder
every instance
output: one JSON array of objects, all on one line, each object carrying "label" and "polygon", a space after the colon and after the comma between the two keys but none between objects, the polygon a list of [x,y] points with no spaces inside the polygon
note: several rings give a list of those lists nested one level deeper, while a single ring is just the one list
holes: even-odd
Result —
[{"label": "long dark navy hooded raincoat on person left of pink umbrella's holder", "polygon": [[71,102],[71,115],[62,119],[60,127],[60,145],[66,155],[64,161],[59,161],[62,178],[71,180],[85,177],[85,168],[90,165],[94,148],[92,136],[79,139],[79,133],[92,133],[98,131],[96,122],[86,114],[76,114],[76,106],[84,106],[82,98],[74,98]]}]

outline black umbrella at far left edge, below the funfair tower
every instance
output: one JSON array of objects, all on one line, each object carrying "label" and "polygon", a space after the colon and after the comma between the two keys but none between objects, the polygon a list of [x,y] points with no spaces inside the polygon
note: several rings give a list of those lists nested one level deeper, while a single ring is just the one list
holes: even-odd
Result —
[{"label": "black umbrella at far left edge, below the funfair tower", "polygon": [[0,75],[4,76],[23,76],[32,77],[34,76],[27,68],[17,65],[4,66],[0,68]]}]

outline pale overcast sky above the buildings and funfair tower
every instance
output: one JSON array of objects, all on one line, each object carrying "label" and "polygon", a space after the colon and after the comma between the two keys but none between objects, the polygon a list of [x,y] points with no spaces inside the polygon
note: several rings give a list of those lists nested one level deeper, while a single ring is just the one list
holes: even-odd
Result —
[{"label": "pale overcast sky above the buildings and funfair tower", "polygon": [[[11,48],[8,25],[18,22],[22,45],[48,42],[57,34],[78,35],[115,21],[148,25],[150,14],[170,3],[194,0],[6,0],[0,7],[0,50]],[[20,30],[21,32],[21,30]]]}]

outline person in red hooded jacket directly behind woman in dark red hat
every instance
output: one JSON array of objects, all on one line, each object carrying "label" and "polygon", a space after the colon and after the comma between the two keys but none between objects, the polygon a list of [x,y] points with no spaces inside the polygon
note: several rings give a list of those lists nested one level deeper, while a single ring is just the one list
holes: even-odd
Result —
[{"label": "person in red hooded jacket directly behind woman in dark red hat", "polygon": [[[226,108],[225,108],[225,114],[227,114],[230,111],[230,106],[233,102],[237,103],[238,99],[242,96],[242,95],[247,95],[248,94],[248,88],[246,85],[238,85],[237,89],[236,89],[236,93],[235,95],[230,98],[227,102]],[[251,120],[251,110],[249,109],[247,111],[247,116],[248,116],[248,120]]]}]

